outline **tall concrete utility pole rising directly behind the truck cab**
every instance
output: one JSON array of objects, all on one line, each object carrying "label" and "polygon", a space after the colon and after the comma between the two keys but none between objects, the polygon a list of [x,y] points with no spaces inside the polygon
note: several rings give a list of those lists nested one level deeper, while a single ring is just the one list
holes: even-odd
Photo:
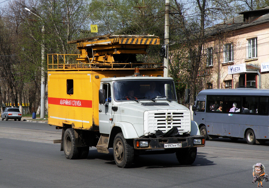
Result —
[{"label": "tall concrete utility pole rising directly behind the truck cab", "polygon": [[168,77],[169,70],[169,14],[170,14],[170,2],[165,0],[165,22],[164,22],[164,45],[166,47],[166,53],[164,57],[164,77]]}]

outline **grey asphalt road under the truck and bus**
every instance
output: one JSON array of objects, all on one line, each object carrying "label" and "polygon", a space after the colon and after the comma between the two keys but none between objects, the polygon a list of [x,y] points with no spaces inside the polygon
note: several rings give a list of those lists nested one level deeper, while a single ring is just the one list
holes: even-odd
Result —
[{"label": "grey asphalt road under the truck and bus", "polygon": [[44,123],[1,121],[0,187],[257,187],[252,166],[261,162],[269,173],[269,144],[215,139],[198,148],[193,165],[161,154],[140,156],[122,169],[111,149],[102,154],[92,147],[85,160],[66,159],[60,145],[52,144],[60,138],[61,131]]}]

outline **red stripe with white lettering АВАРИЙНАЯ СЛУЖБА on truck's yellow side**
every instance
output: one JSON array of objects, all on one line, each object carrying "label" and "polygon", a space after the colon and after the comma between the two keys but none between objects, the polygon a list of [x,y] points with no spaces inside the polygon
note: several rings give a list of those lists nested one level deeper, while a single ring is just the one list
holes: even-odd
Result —
[{"label": "red stripe with white lettering \u0410\u0412\u0410\u0420\u0418\u0419\u041d\u0410\u042f \u0421\u041b\u0423\u0416\u0411\u0410 on truck's yellow side", "polygon": [[92,108],[92,100],[61,99],[61,98],[48,97],[48,103],[62,106]]}]

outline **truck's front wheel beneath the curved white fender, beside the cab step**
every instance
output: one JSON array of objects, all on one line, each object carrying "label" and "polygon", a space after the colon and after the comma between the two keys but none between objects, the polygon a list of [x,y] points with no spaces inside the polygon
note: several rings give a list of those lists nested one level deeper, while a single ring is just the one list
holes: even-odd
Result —
[{"label": "truck's front wheel beneath the curved white fender, beside the cab step", "polygon": [[134,147],[128,144],[122,133],[115,136],[113,143],[113,155],[116,165],[121,168],[128,168],[134,160]]}]

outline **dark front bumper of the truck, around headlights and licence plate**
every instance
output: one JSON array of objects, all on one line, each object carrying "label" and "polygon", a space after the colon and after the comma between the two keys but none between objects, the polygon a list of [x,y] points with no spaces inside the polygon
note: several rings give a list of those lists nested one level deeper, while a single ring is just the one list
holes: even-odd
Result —
[{"label": "dark front bumper of the truck, around headlights and licence plate", "polygon": [[[193,144],[193,139],[201,139],[201,144]],[[150,149],[167,149],[164,144],[181,143],[180,148],[203,147],[205,146],[205,136],[190,136],[190,137],[172,137],[172,138],[135,138],[134,149],[150,150]],[[148,147],[137,147],[137,142],[148,141]],[[169,148],[170,149],[170,148]],[[171,148],[175,149],[175,148]],[[176,148],[179,149],[179,148]]]}]

